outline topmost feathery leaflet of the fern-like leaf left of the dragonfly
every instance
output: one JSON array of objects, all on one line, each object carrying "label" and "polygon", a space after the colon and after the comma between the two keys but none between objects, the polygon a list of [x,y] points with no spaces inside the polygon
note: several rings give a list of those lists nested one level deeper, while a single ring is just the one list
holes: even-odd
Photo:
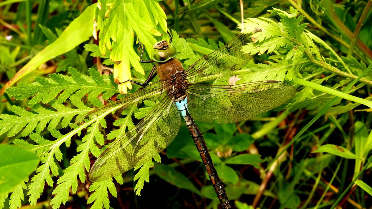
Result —
[{"label": "topmost feathery leaflet of the fern-like leaf left of the dragonfly", "polygon": [[30,105],[39,102],[48,104],[55,98],[58,98],[57,103],[61,104],[74,92],[75,94],[84,92],[88,95],[88,101],[95,106],[102,105],[97,99],[99,94],[103,94],[102,99],[109,99],[118,93],[116,85],[113,82],[108,82],[108,78],[101,76],[95,69],[89,69],[90,76],[81,75],[75,68],[69,68],[68,72],[71,76],[51,74],[50,78],[38,77],[35,78],[36,82],[32,84],[19,83],[19,87],[10,87],[6,92],[17,100],[33,96],[29,101]]}]

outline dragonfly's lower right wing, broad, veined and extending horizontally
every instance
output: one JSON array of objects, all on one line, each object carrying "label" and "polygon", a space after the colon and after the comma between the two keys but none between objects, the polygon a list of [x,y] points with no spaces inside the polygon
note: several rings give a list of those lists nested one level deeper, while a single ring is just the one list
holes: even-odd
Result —
[{"label": "dragonfly's lower right wing, broad, veined and extending horizontally", "polygon": [[235,123],[279,107],[294,97],[296,89],[280,81],[238,85],[190,85],[188,110],[198,121]]}]

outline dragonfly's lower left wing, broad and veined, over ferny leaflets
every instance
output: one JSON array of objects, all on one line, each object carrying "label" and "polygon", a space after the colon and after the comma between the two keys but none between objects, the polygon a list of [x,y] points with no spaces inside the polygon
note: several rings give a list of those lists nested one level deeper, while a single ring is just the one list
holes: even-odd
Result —
[{"label": "dragonfly's lower left wing, broad and veined, over ferny leaflets", "polygon": [[94,162],[89,180],[99,182],[118,176],[164,150],[181,125],[173,100],[163,98],[140,123],[116,139]]}]

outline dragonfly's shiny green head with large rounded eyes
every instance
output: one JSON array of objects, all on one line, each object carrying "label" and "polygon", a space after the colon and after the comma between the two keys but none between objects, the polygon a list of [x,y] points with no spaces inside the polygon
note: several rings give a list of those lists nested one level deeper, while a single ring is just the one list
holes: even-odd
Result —
[{"label": "dragonfly's shiny green head with large rounded eyes", "polygon": [[166,40],[154,44],[153,61],[166,62],[177,55],[176,47],[170,45]]}]

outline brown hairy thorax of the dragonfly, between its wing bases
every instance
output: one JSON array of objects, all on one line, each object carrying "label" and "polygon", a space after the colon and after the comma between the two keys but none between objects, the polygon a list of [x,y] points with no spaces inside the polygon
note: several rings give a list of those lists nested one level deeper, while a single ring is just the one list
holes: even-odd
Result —
[{"label": "brown hairy thorax of the dragonfly, between its wing bases", "polygon": [[183,69],[182,63],[177,59],[170,59],[167,62],[161,62],[157,65],[157,74],[159,75],[163,84],[168,86],[170,89],[168,92],[178,98],[185,94],[185,89],[188,86],[188,82],[185,79],[186,72]]}]

